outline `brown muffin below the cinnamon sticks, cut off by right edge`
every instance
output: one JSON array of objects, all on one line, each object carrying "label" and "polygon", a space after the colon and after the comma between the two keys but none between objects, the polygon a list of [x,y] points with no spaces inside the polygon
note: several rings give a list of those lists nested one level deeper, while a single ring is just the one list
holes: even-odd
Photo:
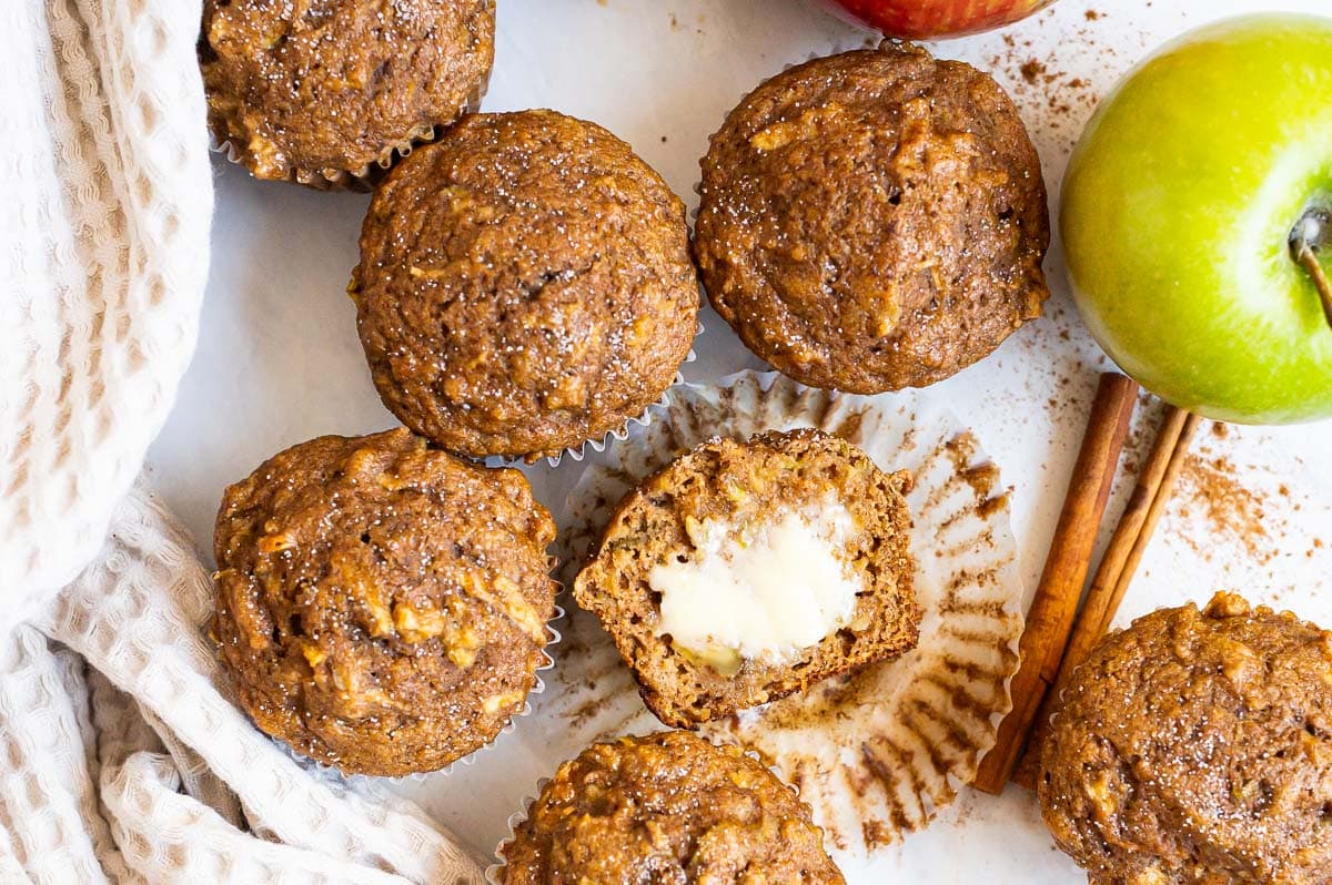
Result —
[{"label": "brown muffin below the cinnamon sticks, cut off by right edge", "polygon": [[1094,884],[1327,881],[1332,633],[1221,594],[1111,635],[1063,697],[1040,808]]}]

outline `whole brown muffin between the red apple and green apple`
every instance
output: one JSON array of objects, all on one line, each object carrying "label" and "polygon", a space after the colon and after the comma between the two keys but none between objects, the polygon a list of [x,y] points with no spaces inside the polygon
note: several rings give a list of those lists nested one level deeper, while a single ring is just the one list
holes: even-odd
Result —
[{"label": "whole brown muffin between the red apple and green apple", "polygon": [[886,43],[773,77],[703,158],[717,311],[803,383],[942,381],[1048,297],[1040,158],[987,75]]}]

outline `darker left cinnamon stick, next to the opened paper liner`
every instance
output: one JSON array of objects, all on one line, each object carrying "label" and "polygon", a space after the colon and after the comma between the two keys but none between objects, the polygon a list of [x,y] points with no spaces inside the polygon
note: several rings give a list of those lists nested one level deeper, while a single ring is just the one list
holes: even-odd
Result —
[{"label": "darker left cinnamon stick, next to the opened paper liner", "polygon": [[1036,711],[1059,673],[1136,401],[1134,381],[1116,373],[1100,377],[1050,556],[1027,612],[1019,644],[1022,665],[1011,683],[1014,708],[972,781],[987,793],[1003,792]]}]

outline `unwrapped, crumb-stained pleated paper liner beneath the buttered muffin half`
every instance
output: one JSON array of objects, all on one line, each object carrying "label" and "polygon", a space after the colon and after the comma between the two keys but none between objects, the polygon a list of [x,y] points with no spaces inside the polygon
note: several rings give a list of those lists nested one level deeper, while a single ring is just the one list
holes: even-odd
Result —
[{"label": "unwrapped, crumb-stained pleated paper liner beneath the buttered muffin half", "polygon": [[[702,732],[755,751],[799,787],[830,848],[870,850],[927,825],[974,777],[1011,708],[1018,668],[1024,591],[1008,499],[998,468],[938,397],[836,394],[755,373],[675,387],[657,421],[611,442],[570,494],[562,579],[573,580],[610,510],[653,471],[714,437],[795,427],[843,437],[880,467],[914,475],[907,502],[920,643]],[[537,703],[562,755],[658,731],[595,618],[569,608],[555,689]]]}]

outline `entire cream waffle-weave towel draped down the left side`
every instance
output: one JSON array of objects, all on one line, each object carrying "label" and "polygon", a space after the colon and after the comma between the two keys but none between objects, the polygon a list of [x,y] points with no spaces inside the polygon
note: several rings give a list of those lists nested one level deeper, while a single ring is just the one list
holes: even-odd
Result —
[{"label": "entire cream waffle-weave towel draped down the left side", "polygon": [[200,19],[0,0],[0,881],[481,882],[218,692],[209,578],[131,492],[208,275]]}]

